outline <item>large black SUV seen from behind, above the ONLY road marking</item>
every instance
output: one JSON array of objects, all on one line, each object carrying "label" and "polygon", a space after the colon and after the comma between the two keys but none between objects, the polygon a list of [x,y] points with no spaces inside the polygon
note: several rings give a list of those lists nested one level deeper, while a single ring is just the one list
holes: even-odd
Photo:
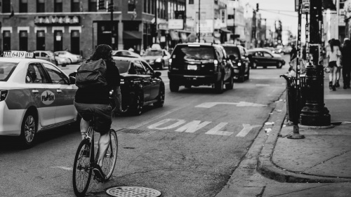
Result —
[{"label": "large black SUV seen from behind, above the ONLY road marking", "polygon": [[233,65],[223,46],[212,43],[180,43],[171,55],[168,67],[169,88],[214,86],[217,93],[233,88]]}]

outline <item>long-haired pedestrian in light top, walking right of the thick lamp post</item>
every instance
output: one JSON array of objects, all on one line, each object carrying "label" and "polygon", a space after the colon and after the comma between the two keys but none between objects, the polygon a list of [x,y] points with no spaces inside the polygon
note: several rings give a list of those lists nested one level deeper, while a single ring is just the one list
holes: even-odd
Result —
[{"label": "long-haired pedestrian in light top, walking right of the thick lamp post", "polygon": [[329,72],[329,89],[335,91],[336,90],[336,72],[338,70],[338,66],[336,61],[340,57],[341,52],[336,45],[335,39],[331,39],[329,50],[326,51],[326,58],[328,59],[328,67],[330,69]]}]

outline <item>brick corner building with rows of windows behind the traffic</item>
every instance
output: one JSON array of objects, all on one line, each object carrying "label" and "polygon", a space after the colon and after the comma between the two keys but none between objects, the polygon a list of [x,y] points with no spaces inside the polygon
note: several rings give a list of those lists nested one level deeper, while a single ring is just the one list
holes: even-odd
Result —
[{"label": "brick corner building with rows of windows behind the traffic", "polygon": [[[84,57],[98,44],[114,50],[167,46],[171,11],[185,0],[2,0],[0,47],[4,50],[69,50]],[[99,6],[99,4],[103,6]],[[113,14],[107,11],[113,3]],[[170,6],[170,7],[168,7]],[[104,7],[104,8],[102,8]]]}]

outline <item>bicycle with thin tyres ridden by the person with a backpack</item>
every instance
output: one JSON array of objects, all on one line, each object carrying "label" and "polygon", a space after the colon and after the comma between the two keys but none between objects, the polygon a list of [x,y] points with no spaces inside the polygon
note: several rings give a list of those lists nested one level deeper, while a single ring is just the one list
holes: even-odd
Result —
[{"label": "bicycle with thin tyres ridden by the person with a backpack", "polygon": [[[85,196],[88,191],[88,186],[91,182],[91,176],[93,175],[93,168],[98,161],[98,151],[94,150],[94,116],[89,123],[88,132],[86,137],[82,140],[78,146],[76,156],[74,156],[73,165],[73,190],[76,196]],[[106,182],[112,177],[114,166],[117,161],[118,151],[118,140],[116,131],[110,129],[110,145],[107,148],[103,163],[102,171],[105,174],[105,179],[100,179],[93,175],[93,179],[98,182]]]}]

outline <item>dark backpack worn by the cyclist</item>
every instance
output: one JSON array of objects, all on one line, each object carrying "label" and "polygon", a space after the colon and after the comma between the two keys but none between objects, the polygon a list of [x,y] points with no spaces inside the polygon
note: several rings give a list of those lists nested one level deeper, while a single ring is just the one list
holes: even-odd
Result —
[{"label": "dark backpack worn by the cyclist", "polygon": [[77,69],[76,86],[78,88],[102,88],[107,86],[106,63],[104,60],[85,61]]}]

